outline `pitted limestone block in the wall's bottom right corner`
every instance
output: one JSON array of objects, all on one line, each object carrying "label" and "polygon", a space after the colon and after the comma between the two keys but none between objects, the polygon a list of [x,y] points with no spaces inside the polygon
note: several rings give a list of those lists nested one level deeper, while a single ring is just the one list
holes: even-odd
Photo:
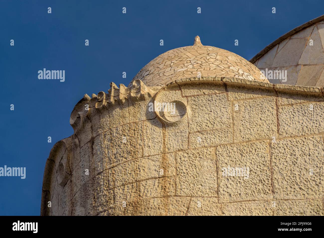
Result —
[{"label": "pitted limestone block in the wall's bottom right corner", "polygon": [[273,208],[275,216],[323,216],[321,199],[279,200]]}]

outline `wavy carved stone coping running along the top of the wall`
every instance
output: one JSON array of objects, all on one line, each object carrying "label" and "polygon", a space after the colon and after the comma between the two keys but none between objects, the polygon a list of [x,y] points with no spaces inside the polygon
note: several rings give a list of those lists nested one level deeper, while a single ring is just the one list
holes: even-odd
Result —
[{"label": "wavy carved stone coping running along the top of the wall", "polygon": [[[118,86],[111,82],[110,89],[108,90],[108,94],[101,91],[96,94],[92,94],[92,98],[90,98],[87,94],[75,105],[74,110],[71,113],[70,117],[70,124],[76,130],[78,128],[77,124],[82,125],[84,121],[82,118],[88,115],[88,111],[91,111],[93,108],[100,108],[102,106],[106,106],[107,103],[113,105],[115,103],[124,104],[128,99],[132,99],[133,102],[143,101],[145,95],[149,98],[153,98],[159,91],[169,87],[171,85],[177,83],[184,83],[184,82],[203,82],[203,81],[222,81],[225,84],[237,84],[237,85],[246,85],[246,86],[254,86],[260,88],[273,88],[276,90],[281,91],[290,91],[290,92],[303,92],[303,93],[316,93],[321,94],[323,93],[323,87],[309,87],[309,86],[294,86],[294,85],[286,85],[286,84],[272,84],[267,82],[261,81],[252,81],[252,80],[245,80],[240,78],[229,78],[229,77],[192,77],[192,78],[184,78],[179,79],[173,82],[166,84],[163,87],[148,87],[144,84],[141,80],[135,80],[132,82],[132,85],[126,87],[124,84],[119,84]],[[324,94],[323,94],[324,95]],[[88,104],[89,110],[85,110],[85,105]]]}]

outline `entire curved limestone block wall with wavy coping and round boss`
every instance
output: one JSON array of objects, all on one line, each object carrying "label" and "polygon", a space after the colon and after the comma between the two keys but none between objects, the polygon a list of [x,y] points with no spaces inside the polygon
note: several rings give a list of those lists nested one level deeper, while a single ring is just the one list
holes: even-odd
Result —
[{"label": "entire curved limestone block wall with wavy coping and round boss", "polygon": [[[176,114],[150,112],[154,101]],[[75,134],[46,163],[41,214],[323,215],[323,109],[317,87],[111,84],[75,106]]]}]

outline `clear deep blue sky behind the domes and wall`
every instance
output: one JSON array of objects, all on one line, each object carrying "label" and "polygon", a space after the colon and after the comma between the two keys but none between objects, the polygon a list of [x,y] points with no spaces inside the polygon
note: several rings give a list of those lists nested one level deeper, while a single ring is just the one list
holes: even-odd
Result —
[{"label": "clear deep blue sky behind the domes and wall", "polygon": [[[0,0],[0,167],[26,167],[26,179],[0,177],[0,215],[40,214],[46,159],[73,134],[70,114],[85,93],[107,92],[112,81],[128,85],[150,60],[192,45],[196,35],[250,60],[322,9],[322,0]],[[43,68],[65,70],[65,81],[39,80]]]}]

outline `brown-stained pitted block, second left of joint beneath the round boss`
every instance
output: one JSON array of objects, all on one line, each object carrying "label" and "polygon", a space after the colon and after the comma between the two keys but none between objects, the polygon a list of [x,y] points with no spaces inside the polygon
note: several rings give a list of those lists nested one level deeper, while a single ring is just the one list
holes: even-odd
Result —
[{"label": "brown-stained pitted block, second left of joint beneath the round boss", "polygon": [[142,123],[125,124],[111,130],[110,158],[112,165],[142,157],[143,131]]}]

